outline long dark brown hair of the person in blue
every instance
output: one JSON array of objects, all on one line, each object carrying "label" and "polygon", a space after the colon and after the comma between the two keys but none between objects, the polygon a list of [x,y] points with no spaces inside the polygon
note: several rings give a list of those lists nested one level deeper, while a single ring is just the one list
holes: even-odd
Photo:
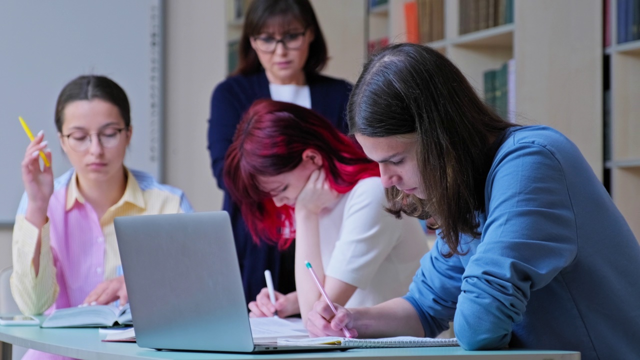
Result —
[{"label": "long dark brown hair of the person in blue", "polygon": [[516,126],[478,97],[444,55],[417,44],[396,44],[367,61],[351,92],[349,130],[369,137],[415,135],[421,188],[427,199],[387,189],[388,211],[430,218],[451,257],[460,234],[479,236],[492,142]]}]

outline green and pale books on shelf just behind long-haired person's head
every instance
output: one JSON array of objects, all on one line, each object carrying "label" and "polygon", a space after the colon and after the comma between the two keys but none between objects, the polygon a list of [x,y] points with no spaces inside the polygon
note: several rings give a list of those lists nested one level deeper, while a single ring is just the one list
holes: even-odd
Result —
[{"label": "green and pale books on shelf just behind long-haired person's head", "polygon": [[515,122],[515,59],[484,72],[484,102],[502,119]]}]

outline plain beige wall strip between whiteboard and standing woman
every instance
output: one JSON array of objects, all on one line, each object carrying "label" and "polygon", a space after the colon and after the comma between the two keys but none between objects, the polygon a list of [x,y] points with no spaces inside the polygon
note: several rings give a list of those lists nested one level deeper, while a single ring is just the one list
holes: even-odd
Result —
[{"label": "plain beige wall strip between whiteboard and standing woman", "polygon": [[219,210],[207,152],[209,99],[227,75],[224,1],[167,1],[165,12],[164,182],[196,211]]}]

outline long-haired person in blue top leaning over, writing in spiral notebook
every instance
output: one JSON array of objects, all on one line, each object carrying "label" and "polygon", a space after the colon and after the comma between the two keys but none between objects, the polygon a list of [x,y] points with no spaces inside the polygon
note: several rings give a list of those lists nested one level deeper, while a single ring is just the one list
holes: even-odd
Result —
[{"label": "long-haired person in blue top leaning over, writing in spiral notebook", "polygon": [[364,66],[349,129],[380,165],[390,211],[431,216],[435,247],[408,293],[310,313],[315,336],[436,336],[467,350],[640,354],[640,246],[579,149],[547,126],[500,119],[460,70],[398,44]]}]

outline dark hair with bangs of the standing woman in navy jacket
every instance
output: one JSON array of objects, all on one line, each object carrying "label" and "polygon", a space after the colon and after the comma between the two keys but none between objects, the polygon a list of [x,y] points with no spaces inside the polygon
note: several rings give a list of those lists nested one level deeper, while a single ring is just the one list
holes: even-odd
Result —
[{"label": "dark hair with bangs of the standing woman in navy jacket", "polygon": [[239,61],[234,75],[249,75],[262,70],[258,54],[251,47],[250,38],[260,35],[269,20],[278,19],[281,24],[298,21],[303,28],[314,33],[309,44],[309,54],[305,63],[305,72],[320,72],[328,59],[326,42],[316,13],[308,0],[253,0],[246,17],[240,37]]}]

